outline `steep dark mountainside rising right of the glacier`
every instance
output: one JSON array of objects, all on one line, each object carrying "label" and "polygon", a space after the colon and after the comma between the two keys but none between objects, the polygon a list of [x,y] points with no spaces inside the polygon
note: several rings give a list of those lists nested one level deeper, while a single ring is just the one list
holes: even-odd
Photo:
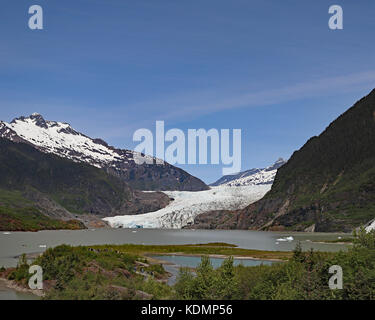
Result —
[{"label": "steep dark mountainside rising right of the glacier", "polygon": [[198,216],[217,228],[346,231],[375,216],[375,90],[311,138],[243,210]]}]

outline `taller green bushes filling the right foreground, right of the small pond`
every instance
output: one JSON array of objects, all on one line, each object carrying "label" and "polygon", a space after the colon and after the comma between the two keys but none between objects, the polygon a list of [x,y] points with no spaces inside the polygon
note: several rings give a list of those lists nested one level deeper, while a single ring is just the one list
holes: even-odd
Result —
[{"label": "taller green bushes filling the right foreground, right of the small pond", "polygon": [[[329,267],[343,269],[343,289],[331,290]],[[302,252],[297,246],[285,263],[256,267],[233,266],[228,258],[214,270],[203,257],[196,276],[181,269],[175,298],[256,300],[360,300],[375,299],[375,232],[363,230],[347,252]]]}]

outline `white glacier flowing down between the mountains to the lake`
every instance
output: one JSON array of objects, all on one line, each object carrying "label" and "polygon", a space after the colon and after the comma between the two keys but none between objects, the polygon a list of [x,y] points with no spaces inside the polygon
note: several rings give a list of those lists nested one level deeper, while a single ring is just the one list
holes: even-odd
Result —
[{"label": "white glacier flowing down between the mountains to the lake", "polygon": [[212,187],[205,191],[163,191],[172,201],[167,207],[140,215],[104,218],[112,228],[181,229],[194,218],[211,210],[243,209],[261,199],[271,185]]}]

